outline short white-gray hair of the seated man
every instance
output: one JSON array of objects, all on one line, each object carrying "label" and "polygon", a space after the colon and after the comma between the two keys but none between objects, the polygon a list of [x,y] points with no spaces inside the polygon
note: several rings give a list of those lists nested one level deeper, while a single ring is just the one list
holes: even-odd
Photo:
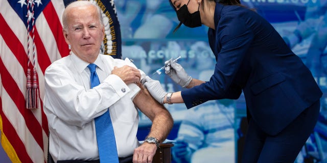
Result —
[{"label": "short white-gray hair of the seated man", "polygon": [[98,16],[99,16],[99,20],[100,20],[100,24],[101,25],[104,25],[104,23],[103,23],[103,19],[102,19],[102,11],[101,11],[101,9],[99,8],[99,6],[98,5],[96,5],[96,4],[93,4],[93,3],[91,3],[91,2],[89,2],[89,1],[75,1],[75,2],[73,2],[73,3],[71,3],[71,4],[69,4],[66,8],[65,8],[65,10],[63,11],[63,14],[62,14],[62,24],[63,24],[63,29],[64,30],[67,30],[67,28],[68,28],[68,20],[67,20],[67,13],[68,13],[68,10],[70,10],[70,9],[73,9],[73,8],[78,8],[78,7],[84,7],[84,6],[94,6],[96,9],[97,9],[97,11],[98,11]]}]

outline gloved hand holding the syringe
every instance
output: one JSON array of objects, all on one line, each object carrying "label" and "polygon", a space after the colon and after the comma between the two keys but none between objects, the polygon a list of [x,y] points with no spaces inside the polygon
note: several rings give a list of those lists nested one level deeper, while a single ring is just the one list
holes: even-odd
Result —
[{"label": "gloved hand holding the syringe", "polygon": [[172,78],[175,83],[181,87],[186,87],[190,84],[192,77],[185,72],[180,64],[173,62],[173,60],[170,59],[165,62],[165,65],[167,65],[165,73],[169,74],[170,78]]}]

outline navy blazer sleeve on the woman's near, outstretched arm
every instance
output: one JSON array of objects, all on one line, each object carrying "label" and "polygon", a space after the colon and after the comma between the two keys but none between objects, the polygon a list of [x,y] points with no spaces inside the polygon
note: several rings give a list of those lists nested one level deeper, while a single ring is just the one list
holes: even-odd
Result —
[{"label": "navy blazer sleeve on the woman's near, outstretched arm", "polygon": [[254,34],[246,25],[245,19],[237,14],[222,16],[216,29],[216,44],[213,48],[220,48],[220,51],[217,54],[215,72],[209,82],[181,92],[187,108],[208,100],[237,99],[242,92],[240,87],[232,83]]}]

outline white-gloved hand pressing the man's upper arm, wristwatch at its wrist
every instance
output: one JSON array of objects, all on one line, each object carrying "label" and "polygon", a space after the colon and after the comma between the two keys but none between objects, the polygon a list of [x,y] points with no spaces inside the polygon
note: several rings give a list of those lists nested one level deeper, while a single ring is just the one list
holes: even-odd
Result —
[{"label": "white-gloved hand pressing the man's upper arm, wristwatch at its wrist", "polygon": [[146,76],[141,80],[141,83],[148,89],[155,100],[161,104],[164,104],[164,98],[167,92],[164,90],[164,88],[161,87],[161,84],[158,80],[154,80],[149,76]]}]

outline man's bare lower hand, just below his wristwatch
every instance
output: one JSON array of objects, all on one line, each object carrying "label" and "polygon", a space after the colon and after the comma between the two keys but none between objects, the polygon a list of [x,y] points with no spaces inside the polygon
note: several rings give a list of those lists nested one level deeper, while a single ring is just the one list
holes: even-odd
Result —
[{"label": "man's bare lower hand, just below his wristwatch", "polygon": [[156,150],[157,146],[154,143],[144,142],[141,146],[134,149],[133,162],[152,162]]}]

